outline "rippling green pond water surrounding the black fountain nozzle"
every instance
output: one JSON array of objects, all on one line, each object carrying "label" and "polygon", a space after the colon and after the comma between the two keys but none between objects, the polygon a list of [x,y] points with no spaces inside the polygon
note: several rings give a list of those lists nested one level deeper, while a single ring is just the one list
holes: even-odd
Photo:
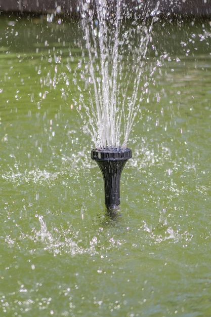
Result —
[{"label": "rippling green pond water surrounding the black fountain nozzle", "polygon": [[0,315],[210,317],[209,22],[154,28],[112,219],[58,19],[0,17]]}]

